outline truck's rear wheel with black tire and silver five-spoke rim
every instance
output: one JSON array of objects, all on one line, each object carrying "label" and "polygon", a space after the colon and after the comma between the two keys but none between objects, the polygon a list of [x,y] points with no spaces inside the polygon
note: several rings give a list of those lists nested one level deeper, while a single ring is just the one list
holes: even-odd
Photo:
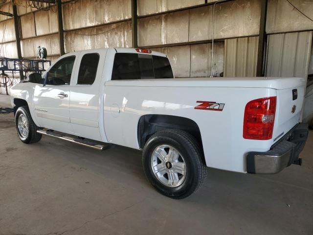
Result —
[{"label": "truck's rear wheel with black tire and silver five-spoke rim", "polygon": [[147,178],[160,193],[175,199],[197,191],[207,176],[198,142],[181,130],[164,130],[149,138],[142,164]]}]

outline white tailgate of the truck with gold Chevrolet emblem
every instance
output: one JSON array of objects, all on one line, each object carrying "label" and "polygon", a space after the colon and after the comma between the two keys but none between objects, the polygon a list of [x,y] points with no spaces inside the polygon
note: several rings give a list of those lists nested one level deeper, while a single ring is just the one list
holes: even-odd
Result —
[{"label": "white tailgate of the truck with gold Chevrolet emblem", "polygon": [[276,90],[277,104],[273,131],[273,142],[295,126],[301,116],[305,86]]}]

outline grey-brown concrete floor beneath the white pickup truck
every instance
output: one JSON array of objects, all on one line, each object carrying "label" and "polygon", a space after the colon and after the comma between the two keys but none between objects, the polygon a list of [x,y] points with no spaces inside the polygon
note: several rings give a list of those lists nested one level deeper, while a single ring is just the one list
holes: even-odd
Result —
[{"label": "grey-brown concrete floor beneath the white pickup truck", "polygon": [[[8,101],[0,95],[0,107]],[[302,166],[209,169],[204,187],[173,200],[150,186],[139,151],[49,137],[23,144],[13,115],[0,115],[0,235],[312,235],[312,152],[310,132]]]}]

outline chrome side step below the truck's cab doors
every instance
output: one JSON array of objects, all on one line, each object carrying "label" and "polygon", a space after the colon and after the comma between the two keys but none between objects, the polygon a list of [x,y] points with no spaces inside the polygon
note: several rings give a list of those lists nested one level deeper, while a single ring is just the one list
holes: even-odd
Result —
[{"label": "chrome side step below the truck's cab doors", "polygon": [[96,141],[64,136],[64,134],[60,133],[60,132],[54,132],[54,131],[48,131],[48,130],[37,130],[37,133],[42,134],[42,135],[46,135],[46,136],[50,136],[50,137],[54,137],[54,138],[57,138],[60,140],[69,141],[72,143],[77,143],[77,144],[80,144],[80,145],[83,145],[83,146],[86,146],[89,148],[97,149],[100,151],[102,151],[108,147],[108,145],[97,144]]}]

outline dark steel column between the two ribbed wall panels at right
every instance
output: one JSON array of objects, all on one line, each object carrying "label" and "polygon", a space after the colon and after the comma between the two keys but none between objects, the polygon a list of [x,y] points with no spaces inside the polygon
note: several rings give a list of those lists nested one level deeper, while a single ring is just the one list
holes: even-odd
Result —
[{"label": "dark steel column between the two ribbed wall panels at right", "polygon": [[259,46],[258,46],[258,63],[256,67],[256,75],[264,76],[264,62],[265,62],[265,47],[267,41],[266,35],[266,18],[268,11],[268,0],[261,1],[261,17],[260,17],[260,31],[259,31]]}]

